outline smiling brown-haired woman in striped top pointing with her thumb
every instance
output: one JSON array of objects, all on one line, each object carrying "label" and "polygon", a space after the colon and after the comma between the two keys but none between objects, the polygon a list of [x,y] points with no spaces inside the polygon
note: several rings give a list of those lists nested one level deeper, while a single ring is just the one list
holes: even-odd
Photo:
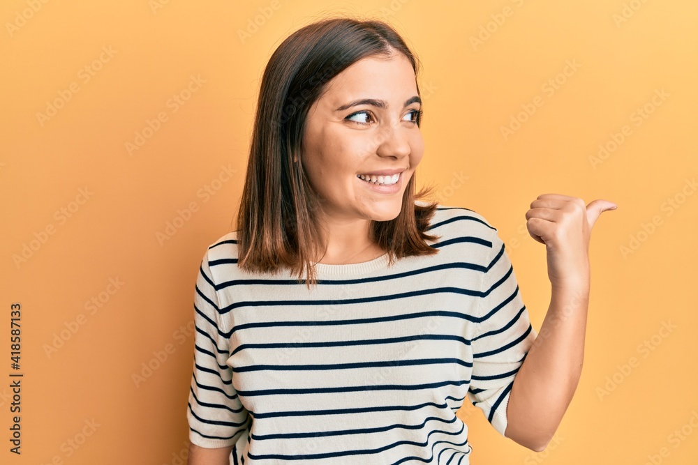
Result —
[{"label": "smiling brown-haired woman in striped top pointing with her thumb", "polygon": [[527,448],[556,431],[581,372],[591,227],[615,205],[531,204],[552,284],[536,337],[497,229],[417,200],[417,73],[387,24],[346,18],[269,59],[237,231],[195,289],[189,464],[465,465],[466,396]]}]

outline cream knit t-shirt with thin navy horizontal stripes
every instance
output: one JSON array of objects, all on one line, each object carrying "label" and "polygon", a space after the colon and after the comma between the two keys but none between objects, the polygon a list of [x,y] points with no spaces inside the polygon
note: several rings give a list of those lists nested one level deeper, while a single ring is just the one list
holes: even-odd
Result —
[{"label": "cream knit t-shirt with thin navy horizontal stripes", "polygon": [[439,250],[388,266],[237,268],[237,231],[211,244],[194,294],[189,440],[230,464],[467,465],[468,401],[500,434],[536,332],[497,229],[439,205]]}]

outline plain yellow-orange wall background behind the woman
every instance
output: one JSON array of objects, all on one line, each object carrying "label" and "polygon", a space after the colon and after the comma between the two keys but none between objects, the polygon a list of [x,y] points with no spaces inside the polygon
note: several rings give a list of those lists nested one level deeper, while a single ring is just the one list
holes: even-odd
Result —
[{"label": "plain yellow-orange wall background behind the woman", "polygon": [[[184,460],[195,277],[235,218],[262,71],[292,31],[348,13],[387,20],[422,60],[417,179],[498,227],[535,328],[550,294],[530,202],[618,204],[593,230],[584,371],[556,439],[531,452],[466,404],[473,464],[697,463],[698,3],[44,1],[0,6],[0,462]],[[187,94],[191,76],[205,82]],[[176,112],[175,94],[188,97]],[[11,303],[20,457],[8,451]]]}]

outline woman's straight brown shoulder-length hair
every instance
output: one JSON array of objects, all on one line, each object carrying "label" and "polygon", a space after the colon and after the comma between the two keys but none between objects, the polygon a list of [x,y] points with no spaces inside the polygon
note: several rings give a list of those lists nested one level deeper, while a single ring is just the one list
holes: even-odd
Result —
[{"label": "woman's straight brown shoulder-length hair", "polygon": [[[315,238],[323,227],[315,212],[322,199],[311,188],[298,155],[302,153],[309,108],[325,84],[352,63],[369,56],[389,58],[401,53],[418,61],[399,34],[385,22],[339,17],[295,31],[274,51],[265,68],[253,125],[245,185],[237,216],[237,266],[251,273],[279,273],[290,268],[306,284],[317,284]],[[417,84],[419,94],[419,84]],[[419,124],[419,121],[417,122]],[[297,158],[297,162],[294,159]],[[438,250],[426,234],[438,201],[422,199],[433,186],[415,194],[413,174],[404,192],[401,212],[389,221],[371,222],[371,238],[396,259],[431,255]]]}]

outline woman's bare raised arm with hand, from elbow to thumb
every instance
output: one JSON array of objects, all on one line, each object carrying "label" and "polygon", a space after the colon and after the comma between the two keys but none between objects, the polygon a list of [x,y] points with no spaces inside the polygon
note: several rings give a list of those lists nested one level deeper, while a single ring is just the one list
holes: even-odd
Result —
[{"label": "woman's bare raised arm with hand, from elbow to thumb", "polygon": [[562,421],[581,376],[591,281],[591,228],[616,204],[540,195],[526,213],[531,237],[546,245],[550,305],[523,360],[507,404],[505,436],[540,452]]}]

